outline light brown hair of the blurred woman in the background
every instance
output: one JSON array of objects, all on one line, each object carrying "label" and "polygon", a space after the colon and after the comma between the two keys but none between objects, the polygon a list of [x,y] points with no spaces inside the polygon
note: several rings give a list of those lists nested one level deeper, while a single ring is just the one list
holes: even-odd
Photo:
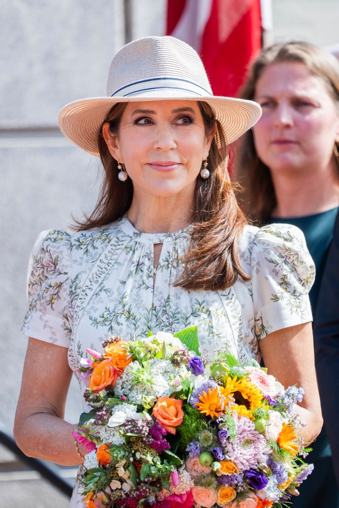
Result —
[{"label": "light brown hair of the blurred woman in the background", "polygon": [[[302,63],[311,74],[322,78],[339,113],[339,62],[332,54],[306,42],[273,44],[264,49],[252,63],[240,97],[253,100],[264,69],[272,63],[281,62]],[[339,169],[339,157],[335,159]],[[240,206],[252,220],[264,223],[276,205],[276,198],[270,170],[258,157],[252,130],[242,137],[234,178],[243,187],[238,198]]]}]

